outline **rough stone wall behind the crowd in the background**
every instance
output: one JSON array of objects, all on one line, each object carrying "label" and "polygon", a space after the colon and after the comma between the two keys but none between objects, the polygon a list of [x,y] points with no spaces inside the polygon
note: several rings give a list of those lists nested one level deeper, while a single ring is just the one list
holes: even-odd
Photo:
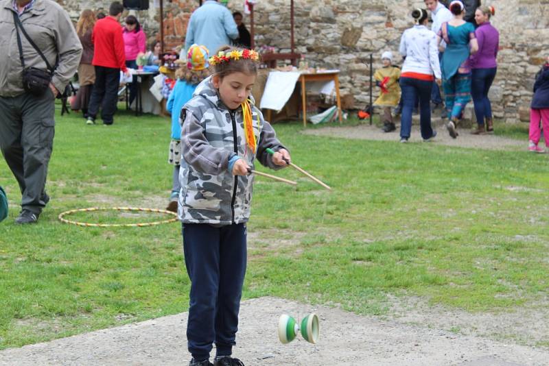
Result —
[{"label": "rough stone wall behind the crowd in the background", "polygon": [[[108,7],[108,1],[59,0],[71,16],[84,8]],[[244,0],[229,1],[231,10],[242,12]],[[369,55],[374,69],[381,66],[382,51],[398,55],[404,29],[412,25],[410,12],[424,7],[421,0],[295,0],[296,51],[309,64],[341,70],[342,95],[353,96],[354,107],[369,102]],[[533,77],[549,55],[549,0],[485,0],[494,5],[493,25],[500,30],[498,75],[491,89],[496,118],[527,120]],[[158,11],[138,12],[148,36],[158,34]],[[165,41],[180,45],[190,12],[198,1],[165,1]],[[249,19],[245,17],[244,23]],[[277,51],[290,49],[290,0],[259,0],[255,7],[255,43]],[[399,56],[395,57],[397,63]],[[377,93],[377,90],[375,90]],[[349,99],[349,98],[348,98]]]}]

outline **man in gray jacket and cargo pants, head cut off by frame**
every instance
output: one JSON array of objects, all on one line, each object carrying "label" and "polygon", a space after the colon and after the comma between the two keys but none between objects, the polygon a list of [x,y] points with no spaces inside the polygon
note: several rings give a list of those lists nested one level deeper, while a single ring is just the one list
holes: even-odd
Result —
[{"label": "man in gray jacket and cargo pants, head cut off by frame", "polygon": [[[34,95],[23,88],[17,33],[25,69],[47,71],[46,63],[15,26],[19,17],[28,36],[54,68],[49,88]],[[71,19],[51,0],[0,1],[0,149],[21,188],[16,223],[36,223],[49,201],[47,167],[54,145],[54,101],[65,90],[80,62],[82,45]]]}]

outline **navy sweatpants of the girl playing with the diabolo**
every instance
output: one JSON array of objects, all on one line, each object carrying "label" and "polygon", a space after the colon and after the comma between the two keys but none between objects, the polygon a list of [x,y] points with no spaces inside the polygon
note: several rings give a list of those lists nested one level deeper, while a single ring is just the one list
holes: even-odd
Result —
[{"label": "navy sweatpants of the girl playing with the diabolo", "polygon": [[238,330],[240,297],[246,273],[246,224],[215,228],[183,224],[183,252],[191,279],[187,346],[199,361],[229,356]]}]

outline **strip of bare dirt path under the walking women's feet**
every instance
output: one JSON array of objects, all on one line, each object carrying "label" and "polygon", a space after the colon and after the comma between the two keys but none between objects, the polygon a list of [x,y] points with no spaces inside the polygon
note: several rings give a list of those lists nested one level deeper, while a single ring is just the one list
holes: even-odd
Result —
[{"label": "strip of bare dirt path under the walking women's feet", "polygon": [[[489,149],[489,150],[524,150],[528,147],[528,141],[517,141],[511,138],[505,138],[495,136],[493,134],[486,135],[473,135],[469,129],[458,129],[458,138],[451,138],[448,135],[443,123],[439,120],[436,121],[436,131],[438,134],[434,138],[432,143],[448,145],[454,147],[474,147],[476,149]],[[342,138],[355,138],[362,140],[377,140],[377,141],[399,141],[399,130],[395,132],[385,133],[379,127],[375,125],[358,125],[355,127],[325,127],[317,130],[305,130],[305,134],[313,134],[317,136],[334,136]],[[412,135],[410,136],[410,143],[419,143],[423,141],[419,134],[418,123],[412,125]]]}]

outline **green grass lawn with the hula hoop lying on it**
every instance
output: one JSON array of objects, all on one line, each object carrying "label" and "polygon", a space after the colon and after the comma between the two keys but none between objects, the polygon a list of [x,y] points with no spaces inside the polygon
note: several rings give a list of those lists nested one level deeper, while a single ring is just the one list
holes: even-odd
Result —
[{"label": "green grass lawn with the hula hoop lying on it", "polygon": [[[498,127],[528,139],[526,124]],[[471,312],[546,299],[547,156],[310,136],[299,133],[299,121],[275,128],[292,160],[333,191],[293,169],[274,174],[297,188],[257,178],[244,298],[274,295],[370,315],[388,311],[389,294]],[[0,161],[10,198],[0,224],[0,349],[187,310],[180,224],[81,228],[57,219],[92,206],[164,208],[169,141],[167,118],[122,112],[105,127],[74,113],[58,117],[51,202],[32,226],[13,223],[21,196]]]}]

